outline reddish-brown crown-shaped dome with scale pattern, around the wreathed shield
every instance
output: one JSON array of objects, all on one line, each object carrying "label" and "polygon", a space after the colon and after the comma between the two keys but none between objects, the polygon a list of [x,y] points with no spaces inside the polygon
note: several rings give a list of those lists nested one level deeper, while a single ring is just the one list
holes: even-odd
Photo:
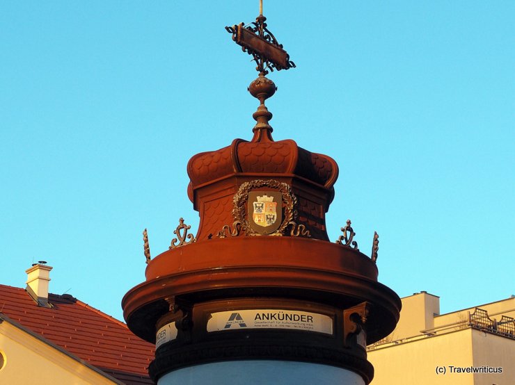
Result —
[{"label": "reddish-brown crown-shaped dome with scale pattern, around the wreathed shield", "polygon": [[269,135],[251,142],[236,139],[223,149],[193,156],[188,174],[189,197],[200,212],[198,240],[232,224],[233,195],[241,181],[255,179],[290,184],[298,199],[299,224],[304,224],[314,238],[327,239],[324,214],[338,178],[338,165],[329,156],[307,151],[294,140],[274,142]]}]

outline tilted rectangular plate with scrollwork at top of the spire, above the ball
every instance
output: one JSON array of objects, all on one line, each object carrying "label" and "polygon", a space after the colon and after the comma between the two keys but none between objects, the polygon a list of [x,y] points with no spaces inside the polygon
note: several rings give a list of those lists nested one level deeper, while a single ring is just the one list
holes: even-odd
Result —
[{"label": "tilted rectangular plate with scrollwork at top of the spire, above the ball", "polygon": [[232,33],[232,40],[240,45],[244,52],[253,56],[253,60],[258,64],[255,67],[258,72],[266,75],[267,69],[280,71],[295,67],[295,63],[290,60],[290,55],[283,49],[283,44],[279,44],[274,34],[267,28],[266,20],[267,18],[260,14],[255,22],[247,26],[241,23],[226,26],[225,30]]}]

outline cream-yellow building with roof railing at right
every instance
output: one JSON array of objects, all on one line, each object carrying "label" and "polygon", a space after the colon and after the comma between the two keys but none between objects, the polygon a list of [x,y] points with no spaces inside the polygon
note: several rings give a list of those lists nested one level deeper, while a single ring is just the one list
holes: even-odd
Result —
[{"label": "cream-yellow building with roof railing at right", "polygon": [[515,297],[440,314],[426,292],[402,298],[399,323],[367,347],[374,385],[515,384]]}]

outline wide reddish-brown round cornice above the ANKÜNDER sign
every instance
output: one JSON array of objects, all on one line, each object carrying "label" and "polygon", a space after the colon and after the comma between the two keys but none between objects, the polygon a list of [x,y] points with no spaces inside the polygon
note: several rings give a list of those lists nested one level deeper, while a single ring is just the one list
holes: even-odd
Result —
[{"label": "wide reddish-brown round cornice above the ANK\u00dcNDER sign", "polygon": [[147,281],[125,295],[122,307],[129,328],[147,341],[154,340],[167,300],[180,296],[201,302],[268,295],[317,299],[342,308],[367,301],[372,304],[369,343],[393,330],[401,307],[393,290],[377,282],[377,268],[367,256],[319,240],[256,236],[205,241],[161,254],[149,263],[146,275]]}]

